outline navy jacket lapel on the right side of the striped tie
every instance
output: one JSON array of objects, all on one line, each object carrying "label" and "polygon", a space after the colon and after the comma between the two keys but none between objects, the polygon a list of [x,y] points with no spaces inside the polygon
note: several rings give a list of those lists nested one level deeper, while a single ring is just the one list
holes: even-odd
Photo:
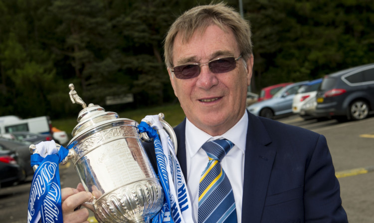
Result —
[{"label": "navy jacket lapel on the right side of the striped tie", "polygon": [[241,221],[260,222],[276,151],[267,147],[271,139],[260,119],[247,113]]}]

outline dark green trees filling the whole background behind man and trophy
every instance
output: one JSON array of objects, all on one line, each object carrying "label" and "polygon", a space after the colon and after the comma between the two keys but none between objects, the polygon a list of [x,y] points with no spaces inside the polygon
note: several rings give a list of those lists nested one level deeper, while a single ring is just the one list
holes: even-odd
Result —
[{"label": "dark green trees filling the whole background behind man and trophy", "polygon": [[[117,108],[175,101],[163,39],[177,16],[209,2],[0,0],[0,116],[75,119],[69,83],[103,107],[106,96],[127,93],[134,103]],[[253,33],[253,91],[374,62],[372,0],[250,0],[243,9]]]}]

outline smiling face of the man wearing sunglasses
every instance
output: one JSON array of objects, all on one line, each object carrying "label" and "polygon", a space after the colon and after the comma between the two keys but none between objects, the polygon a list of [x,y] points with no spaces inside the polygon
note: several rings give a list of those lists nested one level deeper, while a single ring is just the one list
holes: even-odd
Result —
[{"label": "smiling face of the man wearing sunglasses", "polygon": [[[205,63],[212,59],[240,56],[234,34],[210,25],[201,34],[195,32],[188,43],[177,34],[173,64]],[[245,112],[247,87],[252,75],[253,57],[244,66],[242,57],[226,73],[213,73],[207,65],[191,79],[178,79],[168,69],[174,92],[190,122],[211,136],[222,135],[234,126]]]}]

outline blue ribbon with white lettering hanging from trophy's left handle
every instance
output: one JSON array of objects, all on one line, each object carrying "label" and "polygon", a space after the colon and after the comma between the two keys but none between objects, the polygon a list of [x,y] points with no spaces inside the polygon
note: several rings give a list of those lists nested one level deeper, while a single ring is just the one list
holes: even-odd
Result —
[{"label": "blue ribbon with white lettering hanging from trophy's left handle", "polygon": [[[72,148],[75,143],[69,145]],[[58,164],[69,150],[60,147],[57,154],[45,158],[31,155],[31,166],[39,165],[32,178],[27,209],[27,223],[63,223],[61,208],[61,186]]]}]

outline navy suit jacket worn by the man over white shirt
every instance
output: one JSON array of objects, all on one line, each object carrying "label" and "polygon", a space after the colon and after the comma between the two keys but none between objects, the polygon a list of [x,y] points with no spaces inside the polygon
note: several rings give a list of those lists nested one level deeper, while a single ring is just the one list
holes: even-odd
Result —
[{"label": "navy suit jacket worn by the man over white shirt", "polygon": [[[242,223],[348,223],[325,137],[247,113]],[[185,129],[174,130],[186,178]]]}]

